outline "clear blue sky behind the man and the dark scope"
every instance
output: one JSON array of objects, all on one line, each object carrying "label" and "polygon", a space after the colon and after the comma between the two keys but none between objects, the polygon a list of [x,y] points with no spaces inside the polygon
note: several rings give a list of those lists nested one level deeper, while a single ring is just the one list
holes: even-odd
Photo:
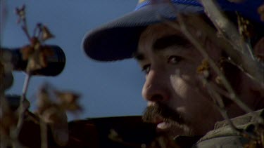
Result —
[{"label": "clear blue sky behind the man and the dark scope", "polygon": [[[46,43],[63,48],[66,65],[55,77],[33,76],[27,97],[32,108],[34,94],[45,82],[59,90],[72,90],[81,94],[84,112],[69,119],[86,117],[127,116],[142,114],[146,102],[141,90],[144,74],[134,60],[96,62],[87,58],[81,48],[84,34],[114,18],[134,10],[137,0],[1,0],[7,13],[1,13],[1,46],[13,48],[27,44],[27,39],[16,23],[15,7],[25,4],[27,22],[32,32],[37,22],[49,27],[56,36]],[[25,74],[13,72],[14,83],[7,93],[20,94]]]}]

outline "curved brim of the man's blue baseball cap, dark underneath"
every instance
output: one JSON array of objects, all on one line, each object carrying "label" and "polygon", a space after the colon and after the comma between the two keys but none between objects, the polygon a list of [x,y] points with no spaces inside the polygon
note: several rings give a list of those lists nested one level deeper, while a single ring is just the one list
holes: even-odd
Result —
[{"label": "curved brim of the man's blue baseball cap, dark underneath", "polygon": [[141,32],[147,25],[161,22],[162,18],[173,20],[177,13],[197,13],[201,6],[157,4],[128,13],[102,27],[88,32],[82,41],[85,53],[94,60],[113,61],[132,58],[137,50]]}]

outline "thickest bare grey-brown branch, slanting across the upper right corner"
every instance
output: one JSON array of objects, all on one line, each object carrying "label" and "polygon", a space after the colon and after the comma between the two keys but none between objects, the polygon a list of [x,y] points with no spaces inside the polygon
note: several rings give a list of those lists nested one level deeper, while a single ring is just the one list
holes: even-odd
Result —
[{"label": "thickest bare grey-brown branch, slanting across the upper right corner", "polygon": [[[223,39],[225,39],[225,41],[228,41],[236,51],[239,51],[236,52],[229,47],[225,50],[227,51],[227,54],[229,54],[232,60],[234,60],[237,65],[240,65],[240,67],[242,67],[245,72],[249,73],[254,79],[256,79],[256,81],[263,85],[264,66],[261,65],[257,60],[255,60],[255,58],[252,58],[252,49],[249,41],[244,41],[242,39],[242,36],[239,34],[237,28],[233,25],[232,22],[230,22],[230,20],[227,19],[227,17],[225,17],[224,13],[222,13],[215,0],[200,1],[205,8],[206,14],[213,22],[215,27],[218,28],[218,32],[220,32],[222,36],[224,36]],[[227,45],[227,43],[225,43],[225,46],[230,45]]]}]

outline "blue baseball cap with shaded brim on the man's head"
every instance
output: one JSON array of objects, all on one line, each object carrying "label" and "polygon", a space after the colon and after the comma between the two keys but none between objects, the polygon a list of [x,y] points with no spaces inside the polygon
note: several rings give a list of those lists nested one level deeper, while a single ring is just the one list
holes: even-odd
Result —
[{"label": "blue baseball cap with shaded brim on the man's head", "polygon": [[[218,0],[223,11],[237,11],[240,15],[260,22],[258,6],[264,0],[244,0],[231,3]],[[139,0],[135,10],[112,22],[88,32],[82,41],[84,52],[94,60],[114,61],[132,58],[137,50],[141,32],[161,18],[176,20],[177,13],[204,13],[203,6],[196,0]]]}]

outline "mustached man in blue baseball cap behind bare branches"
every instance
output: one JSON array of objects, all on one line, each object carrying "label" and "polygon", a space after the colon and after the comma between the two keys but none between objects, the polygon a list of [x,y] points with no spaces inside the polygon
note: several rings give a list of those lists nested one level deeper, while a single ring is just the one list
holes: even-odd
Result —
[{"label": "mustached man in blue baseball cap behind bare branches", "polygon": [[[224,0],[218,2],[227,13],[237,11],[239,15],[263,25],[256,12],[263,1],[244,1],[241,4]],[[147,100],[148,107],[143,119],[156,123],[158,133],[176,137],[178,145],[244,147],[253,141],[260,146],[261,142],[258,140],[241,135],[247,135],[244,128],[251,125],[251,122],[256,125],[263,123],[261,117],[256,115],[258,113],[246,114],[248,110],[243,108],[246,105],[253,111],[263,109],[263,81],[252,79],[249,74],[233,65],[225,48],[215,44],[215,39],[210,38],[210,34],[202,29],[197,30],[194,24],[186,25],[209,58],[206,58],[203,51],[199,51],[199,45],[190,40],[181,29],[182,25],[176,14],[199,14],[205,18],[203,12],[204,8],[198,1],[139,1],[136,11],[89,32],[84,37],[84,51],[90,58],[101,61],[135,58],[146,73],[142,95]],[[208,18],[205,21],[212,26]],[[260,37],[257,37],[253,45],[261,44],[259,41]],[[212,62],[218,65],[218,69],[222,69],[225,78],[234,88],[233,93],[214,69]],[[243,105],[232,100],[234,97],[231,95],[235,94]],[[244,116],[232,121],[228,119],[241,115]],[[217,123],[218,121],[222,122]],[[257,130],[260,131],[260,128]],[[230,137],[226,137],[227,135]],[[199,140],[196,137],[202,138]],[[189,145],[182,144],[185,140]],[[190,143],[197,140],[199,142],[196,144]]]}]

